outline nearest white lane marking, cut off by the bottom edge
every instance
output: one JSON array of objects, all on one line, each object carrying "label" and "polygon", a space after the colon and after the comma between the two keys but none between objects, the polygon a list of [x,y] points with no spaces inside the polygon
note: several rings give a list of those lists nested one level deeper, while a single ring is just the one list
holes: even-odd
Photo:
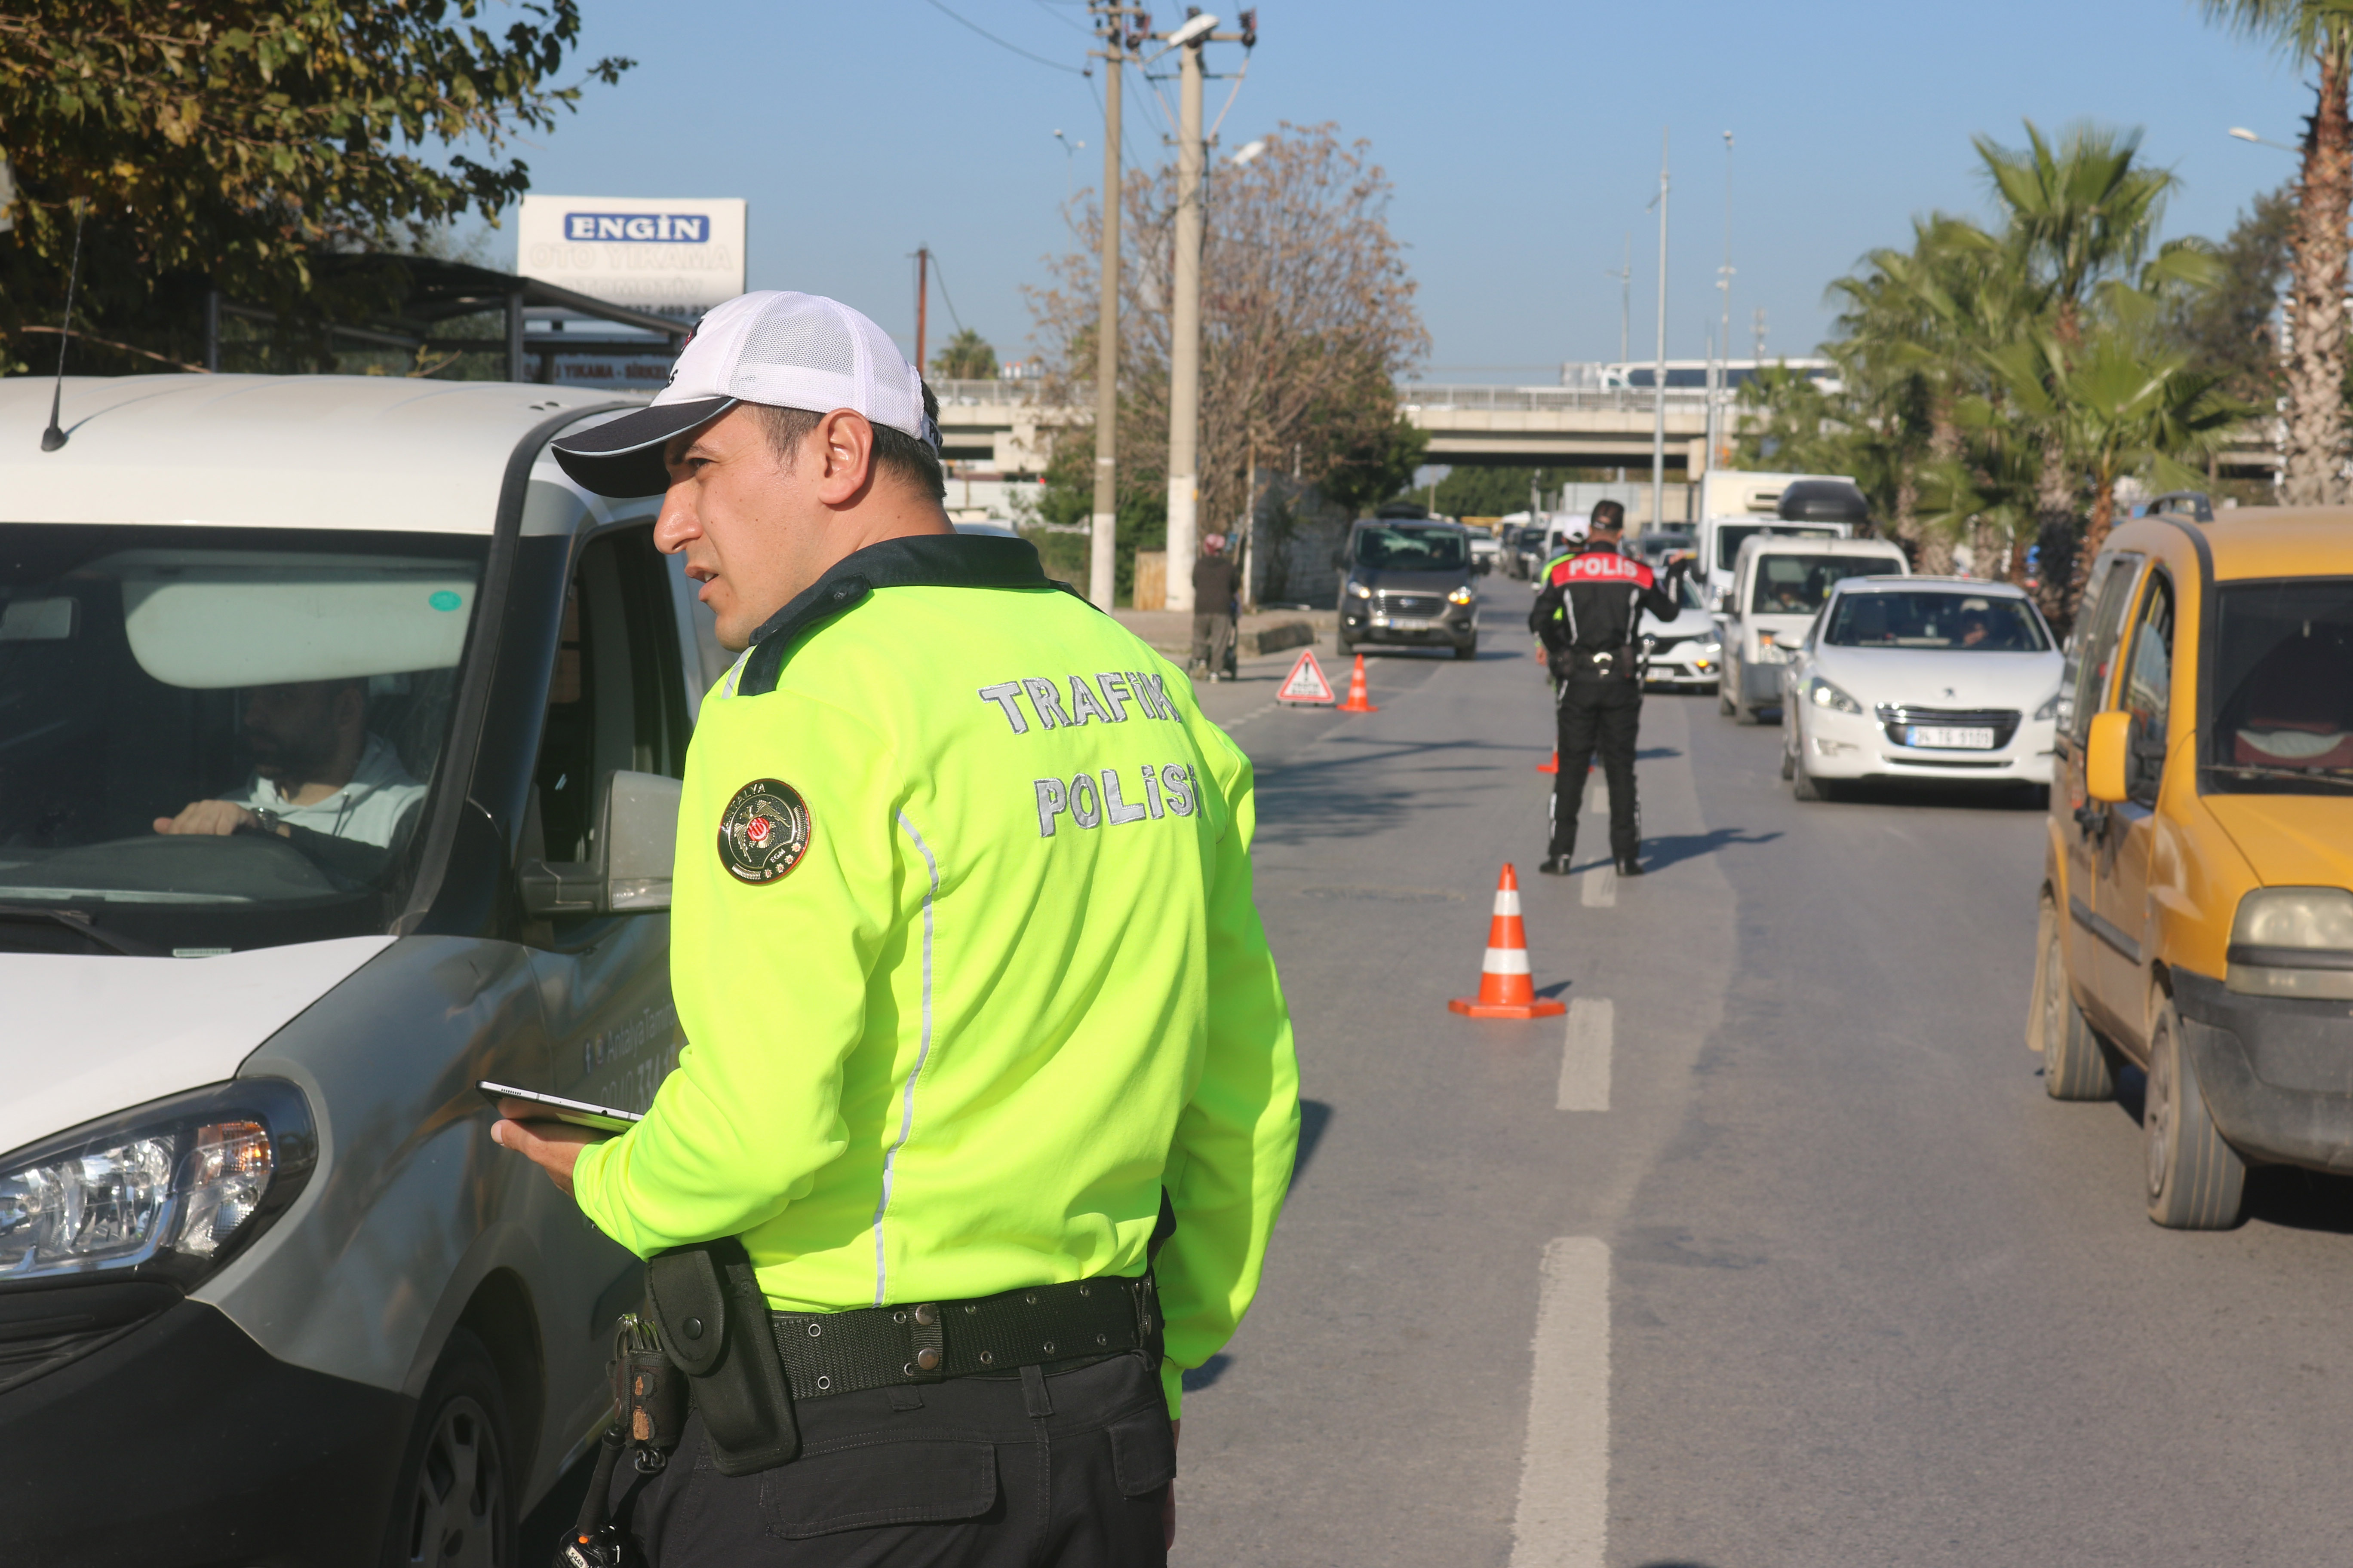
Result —
[{"label": "nearest white lane marking, cut off by the bottom edge", "polygon": [[1511,1568],[1602,1568],[1609,1544],[1609,1244],[1544,1248]]}]

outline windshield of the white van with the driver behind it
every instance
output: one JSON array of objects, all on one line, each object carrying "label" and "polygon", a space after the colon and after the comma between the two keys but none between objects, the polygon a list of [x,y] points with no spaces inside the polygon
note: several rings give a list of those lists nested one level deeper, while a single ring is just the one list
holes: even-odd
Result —
[{"label": "windshield of the white van with the driver behind it", "polygon": [[485,548],[0,524],[0,950],[381,931]]}]

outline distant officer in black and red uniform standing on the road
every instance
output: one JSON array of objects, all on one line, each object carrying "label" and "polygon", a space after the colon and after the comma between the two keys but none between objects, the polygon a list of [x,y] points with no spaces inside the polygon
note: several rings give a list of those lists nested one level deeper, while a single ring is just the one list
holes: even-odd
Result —
[{"label": "distant officer in black and red uniform standing on the road", "polygon": [[[1626,508],[1593,505],[1586,543],[1544,576],[1527,630],[1544,642],[1553,670],[1560,771],[1553,778],[1553,842],[1539,870],[1567,875],[1577,853],[1577,806],[1600,752],[1609,780],[1609,858],[1621,877],[1642,875],[1642,813],[1633,797],[1635,731],[1642,724],[1640,618],[1668,621],[1675,599],[1649,567],[1619,555]],[[1680,564],[1673,571],[1678,571]]]}]

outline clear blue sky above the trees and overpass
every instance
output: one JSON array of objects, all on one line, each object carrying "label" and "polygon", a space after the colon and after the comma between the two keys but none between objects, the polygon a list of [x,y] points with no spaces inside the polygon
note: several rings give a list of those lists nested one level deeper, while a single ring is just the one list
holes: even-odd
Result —
[{"label": "clear blue sky above the trees and overpass", "polygon": [[[944,0],[1021,49],[1080,66],[1078,0]],[[1172,26],[1184,7],[1160,7]],[[955,317],[1028,350],[1024,282],[1068,249],[1061,200],[1101,169],[1089,82],[1000,49],[927,0],[845,5],[588,0],[588,54],[631,54],[621,87],[518,148],[558,195],[741,195],[751,284],[835,294],[913,341],[913,263],[929,244]],[[1240,63],[1212,47],[1212,68]],[[1127,146],[1169,155],[1129,73]],[[2186,0],[1859,5],[1395,5],[1266,0],[1226,150],[1280,120],[1332,120],[1395,181],[1435,350],[1431,378],[1551,381],[1619,353],[1633,235],[1633,341],[1649,353],[1659,132],[1673,132],[1668,353],[1720,320],[1732,150],[1734,343],[1767,310],[1767,350],[1807,353],[1824,287],[1929,209],[1984,212],[1969,136],[2021,118],[2146,129],[2184,190],[2167,233],[2221,235],[2294,158],[2306,73],[2200,21]],[[1224,101],[1209,85],[1209,113]],[[1174,101],[1174,85],[1165,92]],[[1087,150],[1068,160],[1054,129]],[[511,228],[487,252],[511,263]],[[934,343],[948,308],[932,299]],[[1478,369],[1468,369],[1478,367]],[[1529,367],[1529,369],[1492,369]]]}]

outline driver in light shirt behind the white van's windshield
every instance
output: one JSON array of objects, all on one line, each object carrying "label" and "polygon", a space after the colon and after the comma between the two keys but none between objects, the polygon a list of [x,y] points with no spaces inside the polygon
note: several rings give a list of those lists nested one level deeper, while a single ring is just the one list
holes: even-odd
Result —
[{"label": "driver in light shirt behind the white van's windshield", "polygon": [[[367,729],[367,679],[254,686],[242,731],[254,755],[245,790],[158,816],[155,832],[275,832],[296,849],[311,849],[306,839],[318,835],[388,849],[424,802],[426,788],[400,766],[391,743]],[[367,875],[372,867],[334,870]]]}]

